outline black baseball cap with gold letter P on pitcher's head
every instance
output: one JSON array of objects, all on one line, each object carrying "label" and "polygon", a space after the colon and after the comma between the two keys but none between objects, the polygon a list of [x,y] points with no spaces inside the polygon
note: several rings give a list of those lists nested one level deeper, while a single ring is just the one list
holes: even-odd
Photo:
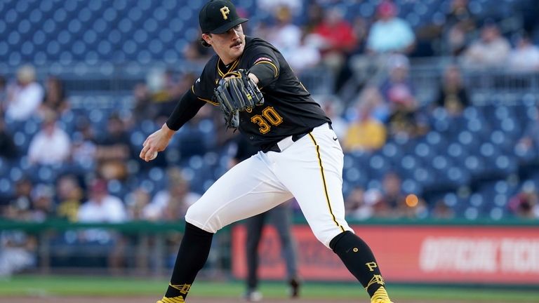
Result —
[{"label": "black baseball cap with gold letter P on pitcher's head", "polygon": [[248,19],[239,18],[234,4],[227,0],[208,1],[199,13],[203,33],[222,34],[246,21]]}]

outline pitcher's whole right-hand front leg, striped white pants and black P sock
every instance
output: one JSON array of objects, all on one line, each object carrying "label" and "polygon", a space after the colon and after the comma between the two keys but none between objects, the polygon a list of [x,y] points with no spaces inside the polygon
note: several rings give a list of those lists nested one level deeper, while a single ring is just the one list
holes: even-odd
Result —
[{"label": "pitcher's whole right-hand front leg, striped white pants and black P sock", "polygon": [[[290,163],[280,166],[277,175],[298,200],[314,235],[340,257],[347,269],[366,288],[371,302],[390,302],[371,249],[354,235],[345,221],[342,197],[343,155],[340,145],[333,140],[334,136],[332,130],[315,128],[305,136],[308,140],[304,137],[290,148],[297,150],[288,154]],[[295,162],[292,161],[294,158]],[[302,175],[301,183],[289,177],[298,172]]]}]

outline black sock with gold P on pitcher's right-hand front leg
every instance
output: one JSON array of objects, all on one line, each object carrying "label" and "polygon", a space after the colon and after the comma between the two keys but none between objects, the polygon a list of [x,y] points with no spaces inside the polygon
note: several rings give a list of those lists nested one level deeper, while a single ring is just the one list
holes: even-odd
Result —
[{"label": "black sock with gold P on pitcher's right-hand front leg", "polygon": [[335,236],[329,247],[336,253],[346,268],[357,278],[371,296],[371,302],[390,302],[385,283],[371,248],[351,231]]}]

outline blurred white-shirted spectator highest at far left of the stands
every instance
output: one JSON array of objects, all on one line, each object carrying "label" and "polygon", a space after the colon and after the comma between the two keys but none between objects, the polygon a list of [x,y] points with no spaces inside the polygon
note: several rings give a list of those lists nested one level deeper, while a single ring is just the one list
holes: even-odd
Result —
[{"label": "blurred white-shirted spectator highest at far left of the stands", "polygon": [[36,82],[36,70],[24,65],[17,71],[17,83],[8,88],[6,118],[25,121],[36,113],[44,98],[44,90]]}]

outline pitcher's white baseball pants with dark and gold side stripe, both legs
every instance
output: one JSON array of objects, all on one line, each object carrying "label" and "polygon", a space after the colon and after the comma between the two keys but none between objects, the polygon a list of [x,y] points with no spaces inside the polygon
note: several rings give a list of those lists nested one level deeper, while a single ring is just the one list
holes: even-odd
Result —
[{"label": "pitcher's white baseball pants with dark and gold side stripe, both legs", "polygon": [[295,197],[314,235],[329,248],[343,231],[342,149],[324,123],[292,142],[279,142],[281,152],[258,152],[230,169],[194,203],[185,220],[215,233],[222,227],[258,215]]}]

